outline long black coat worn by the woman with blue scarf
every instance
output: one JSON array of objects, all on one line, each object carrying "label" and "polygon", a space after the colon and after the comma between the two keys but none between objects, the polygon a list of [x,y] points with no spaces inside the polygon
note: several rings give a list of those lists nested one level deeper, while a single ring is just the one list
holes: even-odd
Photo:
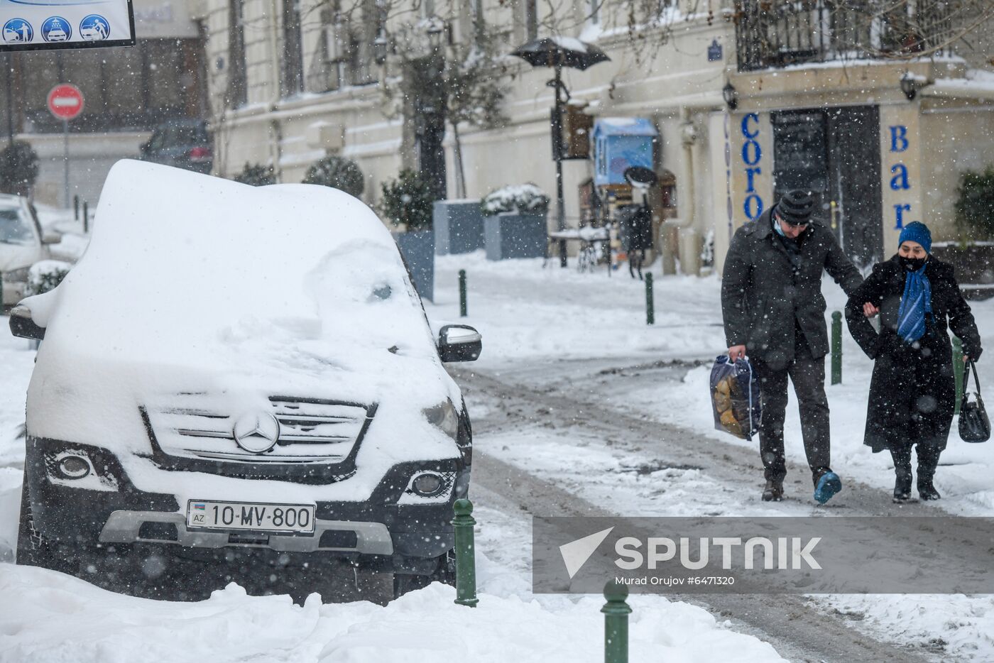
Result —
[{"label": "long black coat worn by the woman with blue scarf", "polygon": [[[952,266],[931,255],[926,264],[932,314],[925,316],[925,334],[914,344],[906,343],[897,332],[908,274],[897,255],[874,265],[873,273],[846,304],[850,333],[863,352],[876,360],[864,436],[864,443],[874,451],[912,442],[944,449],[956,399],[946,330],[951,328],[962,341],[963,354],[980,357],[980,334],[959,293]],[[865,302],[880,308],[879,334],[863,314]]]}]

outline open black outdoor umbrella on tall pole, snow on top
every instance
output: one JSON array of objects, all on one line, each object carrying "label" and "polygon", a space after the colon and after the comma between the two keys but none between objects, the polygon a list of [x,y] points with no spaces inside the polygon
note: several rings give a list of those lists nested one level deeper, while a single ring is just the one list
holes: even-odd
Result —
[{"label": "open black outdoor umbrella on tall pole, snow on top", "polygon": [[[556,70],[556,78],[549,85],[556,90],[556,106],[553,110],[553,154],[556,159],[556,207],[559,231],[566,230],[566,216],[563,211],[563,136],[562,136],[562,99],[560,89],[566,92],[567,99],[570,91],[563,84],[563,68],[585,70],[597,63],[610,60],[603,51],[581,42],[574,37],[543,37],[519,46],[511,52],[512,56],[521,58],[533,67],[552,67]],[[566,240],[560,240],[560,265],[566,266]]]}]

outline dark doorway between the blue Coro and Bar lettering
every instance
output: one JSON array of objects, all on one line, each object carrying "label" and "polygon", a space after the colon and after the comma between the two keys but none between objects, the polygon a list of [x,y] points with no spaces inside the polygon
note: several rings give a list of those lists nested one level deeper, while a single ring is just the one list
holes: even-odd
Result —
[{"label": "dark doorway between the blue Coro and Bar lettering", "polygon": [[865,267],[883,258],[880,109],[839,106],[771,114],[774,199],[811,191],[815,218]]}]

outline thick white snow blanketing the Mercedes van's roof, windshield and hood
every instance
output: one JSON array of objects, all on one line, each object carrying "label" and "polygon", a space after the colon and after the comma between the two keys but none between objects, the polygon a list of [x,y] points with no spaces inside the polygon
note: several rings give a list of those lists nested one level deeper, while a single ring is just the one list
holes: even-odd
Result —
[{"label": "thick white snow blanketing the Mercedes van's roof, windshield and hood", "polygon": [[419,457],[452,454],[420,410],[458,391],[400,253],[341,191],[121,161],[79,263],[26,303],[46,327],[32,435],[140,451],[139,408],[192,395],[238,415],[289,396],[378,404],[375,426]]}]

